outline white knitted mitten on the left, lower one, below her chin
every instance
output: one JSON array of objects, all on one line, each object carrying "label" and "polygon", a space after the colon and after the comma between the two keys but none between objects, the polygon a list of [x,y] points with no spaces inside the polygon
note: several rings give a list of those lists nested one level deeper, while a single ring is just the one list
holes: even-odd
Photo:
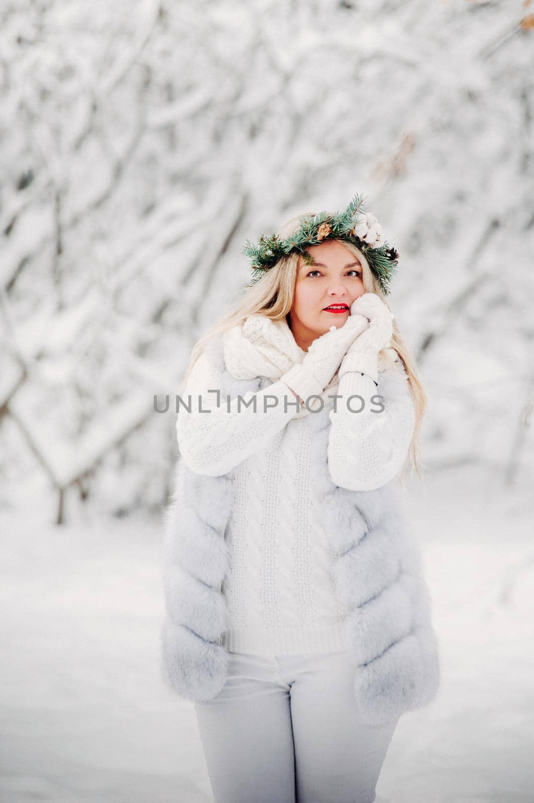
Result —
[{"label": "white knitted mitten on the left, lower one, below her chin", "polygon": [[346,350],[369,326],[365,316],[350,315],[345,324],[316,337],[301,363],[280,377],[301,399],[320,394],[339,368]]}]

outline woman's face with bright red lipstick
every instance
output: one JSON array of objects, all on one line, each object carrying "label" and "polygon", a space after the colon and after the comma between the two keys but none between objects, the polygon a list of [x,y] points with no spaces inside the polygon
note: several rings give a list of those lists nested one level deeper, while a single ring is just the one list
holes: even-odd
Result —
[{"label": "woman's face with bright red lipstick", "polygon": [[[326,240],[306,251],[315,265],[302,259],[297,270],[289,328],[297,344],[304,349],[331,326],[340,327],[350,316],[350,305],[365,293],[362,264],[342,243]],[[343,312],[327,312],[331,304],[345,304]]]}]

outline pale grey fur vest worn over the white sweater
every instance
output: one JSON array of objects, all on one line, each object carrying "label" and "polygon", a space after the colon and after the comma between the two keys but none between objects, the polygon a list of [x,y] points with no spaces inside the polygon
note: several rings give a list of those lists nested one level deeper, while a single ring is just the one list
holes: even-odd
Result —
[{"label": "pale grey fur vest worn over the white sweater", "polygon": [[[224,365],[222,350],[215,348]],[[394,397],[399,381],[394,370],[380,374],[378,392],[386,401]],[[236,397],[271,382],[267,377],[236,380],[225,369],[220,392]],[[336,555],[337,593],[349,611],[346,643],[354,665],[354,697],[362,717],[379,724],[435,698],[439,656],[431,597],[394,480],[375,491],[350,491],[331,481],[326,462],[329,409],[310,413],[302,425],[315,433],[312,479]],[[225,528],[233,503],[232,473],[198,475],[179,456],[164,516],[167,613],[161,630],[161,675],[172,691],[195,701],[216,697],[229,666],[221,643],[226,609],[220,589],[230,565]]]}]

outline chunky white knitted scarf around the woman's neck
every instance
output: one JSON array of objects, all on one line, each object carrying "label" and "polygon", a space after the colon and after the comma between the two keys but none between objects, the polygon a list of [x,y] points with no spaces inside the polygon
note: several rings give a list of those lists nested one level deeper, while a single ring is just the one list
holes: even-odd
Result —
[{"label": "chunky white knitted scarf around the woman's neck", "polygon": [[[227,329],[223,334],[226,368],[236,379],[269,377],[277,381],[296,363],[301,363],[305,351],[293,337],[285,317],[273,320],[259,313],[248,316],[242,324]],[[378,354],[378,371],[383,371],[398,358],[394,349],[383,349]],[[329,395],[337,393],[338,372],[320,394],[325,406],[331,402]],[[293,418],[309,414],[301,406]]]}]

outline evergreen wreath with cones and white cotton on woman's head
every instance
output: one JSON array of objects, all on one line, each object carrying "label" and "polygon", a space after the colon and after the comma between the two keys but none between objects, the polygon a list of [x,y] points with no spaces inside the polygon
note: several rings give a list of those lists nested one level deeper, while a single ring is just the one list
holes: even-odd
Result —
[{"label": "evergreen wreath with cones and white cotton on woman's head", "polygon": [[326,239],[341,239],[354,243],[362,251],[370,270],[378,279],[382,293],[387,296],[390,279],[397,272],[398,252],[385,242],[382,226],[374,214],[363,211],[363,202],[363,196],[356,194],[343,212],[319,212],[312,216],[303,214],[299,218],[297,231],[285,239],[279,238],[274,232],[269,237],[261,234],[256,245],[246,240],[241,253],[249,257],[253,271],[253,278],[246,287],[252,287],[265,275],[265,271],[269,271],[291,251],[300,251],[305,263],[314,265],[313,256],[305,251],[306,246],[318,245]]}]

